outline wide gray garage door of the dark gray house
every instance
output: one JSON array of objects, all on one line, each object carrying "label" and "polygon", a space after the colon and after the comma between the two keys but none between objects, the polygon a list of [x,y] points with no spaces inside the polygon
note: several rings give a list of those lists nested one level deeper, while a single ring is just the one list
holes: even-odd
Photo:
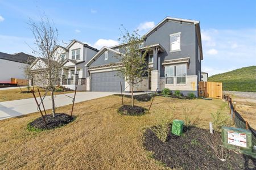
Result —
[{"label": "wide gray garage door of the dark gray house", "polygon": [[120,82],[122,89],[125,88],[125,79],[118,76],[117,71],[92,73],[90,76],[92,91],[120,92]]}]

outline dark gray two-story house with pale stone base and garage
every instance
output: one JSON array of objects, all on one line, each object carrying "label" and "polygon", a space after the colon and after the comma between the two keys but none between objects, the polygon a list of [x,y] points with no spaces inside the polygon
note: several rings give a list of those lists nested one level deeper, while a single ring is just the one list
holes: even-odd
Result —
[{"label": "dark gray two-story house with pale stone base and garage", "polygon": [[[203,59],[200,23],[195,20],[167,17],[144,35],[143,48],[149,48],[147,62],[150,71],[135,91],[158,91],[163,88],[180,90],[184,95],[197,95],[201,80]],[[117,75],[121,66],[119,46],[102,48],[88,63],[86,76],[90,91],[120,92],[120,82],[125,89],[129,84]],[[125,91],[130,91],[127,87]]]}]

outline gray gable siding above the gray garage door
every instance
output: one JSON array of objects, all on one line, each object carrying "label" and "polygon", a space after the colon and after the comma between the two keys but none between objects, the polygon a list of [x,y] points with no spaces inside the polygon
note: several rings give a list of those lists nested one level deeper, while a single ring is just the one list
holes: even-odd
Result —
[{"label": "gray gable siding above the gray garage door", "polygon": [[117,53],[108,51],[108,59],[105,60],[105,53],[103,53],[94,62],[92,62],[90,67],[100,66],[100,65],[107,65],[107,64],[110,64],[110,63],[120,62],[119,58],[117,58],[116,56],[118,56]]}]

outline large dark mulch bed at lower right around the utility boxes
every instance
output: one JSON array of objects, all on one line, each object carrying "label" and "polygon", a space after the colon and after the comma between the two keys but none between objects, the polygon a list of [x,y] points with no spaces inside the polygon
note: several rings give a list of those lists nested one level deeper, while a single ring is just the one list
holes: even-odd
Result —
[{"label": "large dark mulch bed at lower right around the utility boxes", "polygon": [[143,146],[152,151],[154,159],[170,168],[182,169],[256,169],[256,159],[226,150],[232,156],[222,162],[211,148],[203,141],[202,136],[210,135],[208,130],[184,128],[180,137],[168,134],[166,142],[160,141],[155,133],[147,129],[144,133]]}]

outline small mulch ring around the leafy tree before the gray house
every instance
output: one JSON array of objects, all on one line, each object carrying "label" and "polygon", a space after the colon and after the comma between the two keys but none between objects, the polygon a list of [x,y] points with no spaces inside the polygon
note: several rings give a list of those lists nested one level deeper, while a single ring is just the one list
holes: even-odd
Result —
[{"label": "small mulch ring around the leafy tree before the gray house", "polygon": [[130,115],[130,116],[140,116],[145,114],[146,109],[143,107],[139,107],[137,105],[134,105],[134,107],[131,107],[130,105],[123,105],[120,107],[117,112],[120,114]]}]

